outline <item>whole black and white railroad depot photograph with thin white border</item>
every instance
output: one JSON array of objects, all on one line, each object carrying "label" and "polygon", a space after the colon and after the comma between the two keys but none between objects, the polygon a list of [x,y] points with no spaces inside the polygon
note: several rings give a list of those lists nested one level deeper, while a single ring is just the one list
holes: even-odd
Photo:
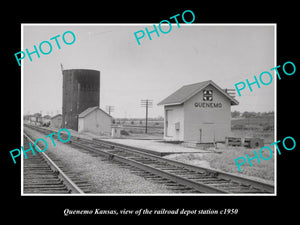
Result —
[{"label": "whole black and white railroad depot photograph with thin white border", "polygon": [[[23,144],[43,151],[21,156],[24,195],[276,194],[276,150],[260,151],[275,141],[275,24],[22,24],[22,35]],[[236,83],[248,84],[240,96]]]}]

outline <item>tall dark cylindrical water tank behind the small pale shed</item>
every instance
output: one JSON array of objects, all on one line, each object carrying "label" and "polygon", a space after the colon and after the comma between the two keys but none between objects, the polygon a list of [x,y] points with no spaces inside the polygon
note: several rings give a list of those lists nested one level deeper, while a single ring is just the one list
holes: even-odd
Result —
[{"label": "tall dark cylindrical water tank behind the small pale shed", "polygon": [[100,71],[63,70],[62,127],[78,131],[78,115],[100,104]]}]

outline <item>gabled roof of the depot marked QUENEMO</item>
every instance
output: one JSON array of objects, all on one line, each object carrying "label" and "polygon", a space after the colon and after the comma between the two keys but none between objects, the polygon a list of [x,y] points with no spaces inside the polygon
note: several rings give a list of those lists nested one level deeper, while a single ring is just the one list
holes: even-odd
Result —
[{"label": "gabled roof of the depot marked QUENEMO", "polygon": [[220,88],[217,84],[215,84],[212,80],[203,81],[200,83],[184,85],[175,91],[173,94],[169,95],[167,98],[158,103],[158,105],[180,105],[191,97],[199,93],[208,85],[214,86],[217,90],[219,90],[225,97],[230,100],[231,105],[238,105],[239,102],[231,97],[228,93],[226,93],[222,88]]}]

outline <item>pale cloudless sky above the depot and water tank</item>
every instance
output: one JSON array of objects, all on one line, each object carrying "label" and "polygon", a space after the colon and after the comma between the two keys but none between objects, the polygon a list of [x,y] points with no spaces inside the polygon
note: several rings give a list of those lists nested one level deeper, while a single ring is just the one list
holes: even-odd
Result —
[{"label": "pale cloudless sky above the depot and water tank", "polygon": [[[254,75],[263,71],[276,77],[270,71],[276,66],[272,24],[180,24],[178,28],[175,23],[169,33],[160,32],[159,37],[152,33],[152,40],[145,35],[138,45],[134,32],[145,27],[151,31],[153,24],[23,24],[21,51],[31,52],[43,41],[52,44],[50,54],[40,53],[40,58],[32,54],[32,61],[26,55],[22,60],[23,113],[61,113],[60,63],[64,69],[99,70],[100,108],[114,106],[112,116],[126,118],[145,117],[142,99],[153,100],[149,117],[163,116],[163,106],[157,104],[183,85],[212,80],[223,89],[233,89],[235,83],[254,81]],[[75,34],[71,45],[61,39],[66,31]],[[57,35],[61,49],[50,40]],[[47,51],[46,44],[43,49]],[[231,110],[274,111],[275,80],[236,95],[239,105]]]}]

